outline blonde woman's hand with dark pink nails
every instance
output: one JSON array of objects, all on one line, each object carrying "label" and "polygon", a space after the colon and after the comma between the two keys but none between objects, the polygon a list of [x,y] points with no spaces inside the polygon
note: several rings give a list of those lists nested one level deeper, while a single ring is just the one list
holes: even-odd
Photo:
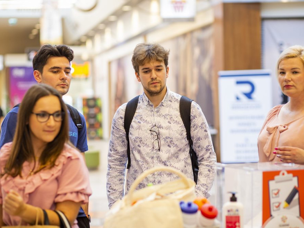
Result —
[{"label": "blonde woman's hand with dark pink nails", "polygon": [[304,164],[304,150],[299,147],[277,147],[273,153],[285,163]]}]

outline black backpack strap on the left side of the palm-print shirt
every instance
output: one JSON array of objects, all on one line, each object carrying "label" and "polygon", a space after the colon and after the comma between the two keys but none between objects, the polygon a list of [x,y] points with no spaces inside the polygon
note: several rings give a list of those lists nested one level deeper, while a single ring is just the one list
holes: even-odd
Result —
[{"label": "black backpack strap on the left side of the palm-print shirt", "polygon": [[129,130],[130,130],[131,122],[133,120],[135,111],[137,109],[138,98],[139,98],[139,95],[137,97],[134,97],[132,100],[130,100],[127,103],[126,111],[125,111],[125,117],[124,117],[124,123],[123,123],[123,127],[125,128],[126,138],[127,138],[127,142],[128,142],[128,145],[127,145],[127,155],[128,155],[127,169],[129,169],[130,166],[131,166]]}]

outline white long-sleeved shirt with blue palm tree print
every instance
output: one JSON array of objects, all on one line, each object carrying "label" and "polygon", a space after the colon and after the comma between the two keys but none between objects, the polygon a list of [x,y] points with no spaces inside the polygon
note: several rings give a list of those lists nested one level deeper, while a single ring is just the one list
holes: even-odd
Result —
[{"label": "white long-sleeved shirt with blue palm tree print", "polygon": [[[140,95],[129,132],[131,167],[127,171],[126,192],[139,174],[158,166],[178,169],[193,180],[189,142],[179,112],[180,98],[181,95],[167,89],[163,101],[154,108],[144,93]],[[117,109],[111,127],[106,185],[109,207],[124,195],[128,161],[124,129],[125,110],[126,103]],[[199,162],[195,193],[197,196],[209,197],[215,177],[216,154],[206,118],[195,102],[191,105],[190,119],[193,147]],[[157,185],[177,178],[171,173],[156,172],[143,180],[138,188],[144,188],[149,183]]]}]

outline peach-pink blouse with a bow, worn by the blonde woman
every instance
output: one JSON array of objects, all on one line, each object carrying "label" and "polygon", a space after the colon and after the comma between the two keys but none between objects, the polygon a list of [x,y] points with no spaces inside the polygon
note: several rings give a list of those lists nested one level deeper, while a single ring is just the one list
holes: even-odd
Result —
[{"label": "peach-pink blouse with a bow, worn by the blonde woman", "polygon": [[278,113],[283,105],[277,105],[268,113],[260,135],[257,138],[259,162],[281,162],[272,152],[276,147],[299,147],[304,149],[304,121],[303,117],[289,123],[281,123]]}]

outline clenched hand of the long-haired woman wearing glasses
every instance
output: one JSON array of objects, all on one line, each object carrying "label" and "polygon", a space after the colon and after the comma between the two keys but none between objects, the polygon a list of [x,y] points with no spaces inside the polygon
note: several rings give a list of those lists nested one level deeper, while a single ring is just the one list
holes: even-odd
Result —
[{"label": "clenched hand of the long-haired woman wearing glasses", "polygon": [[25,205],[22,197],[14,190],[10,190],[5,196],[3,210],[9,215],[20,216],[25,210]]}]

